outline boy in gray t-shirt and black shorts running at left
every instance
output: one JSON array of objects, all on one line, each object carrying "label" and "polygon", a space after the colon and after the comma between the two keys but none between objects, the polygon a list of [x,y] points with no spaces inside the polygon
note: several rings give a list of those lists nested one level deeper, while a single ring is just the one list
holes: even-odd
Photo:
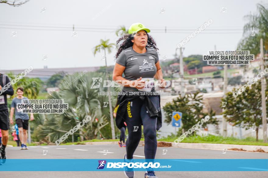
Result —
[{"label": "boy in gray t-shirt and black shorts running at left", "polygon": [[[17,103],[22,103],[22,99],[28,99],[23,96],[23,88],[19,87],[17,89],[17,97],[12,100],[11,104],[11,109],[10,109],[10,123],[13,125],[13,114],[15,110],[15,119],[16,119],[16,124],[18,125],[19,129],[19,139],[21,141],[21,148],[20,149],[28,149],[26,146],[26,141],[27,141],[27,130],[29,126],[29,116],[28,114],[23,114],[22,109],[17,108]],[[33,113],[30,113],[30,121],[32,121],[33,118]]]}]

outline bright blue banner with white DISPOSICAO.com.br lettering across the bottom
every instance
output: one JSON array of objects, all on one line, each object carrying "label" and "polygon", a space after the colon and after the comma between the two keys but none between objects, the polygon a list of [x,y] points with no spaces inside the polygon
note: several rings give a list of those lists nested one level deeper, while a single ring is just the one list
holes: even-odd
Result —
[{"label": "bright blue banner with white DISPOSICAO.com.br lettering across the bottom", "polygon": [[268,171],[268,159],[7,159],[0,171]]}]

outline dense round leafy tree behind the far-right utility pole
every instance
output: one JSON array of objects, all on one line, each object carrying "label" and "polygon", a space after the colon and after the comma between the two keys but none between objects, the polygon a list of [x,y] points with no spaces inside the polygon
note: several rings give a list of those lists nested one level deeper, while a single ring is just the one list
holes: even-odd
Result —
[{"label": "dense round leafy tree behind the far-right utility pole", "polygon": [[[224,118],[234,125],[241,124],[245,129],[256,126],[256,140],[258,140],[259,126],[262,125],[261,83],[258,81],[252,84],[236,98],[233,96],[235,91],[236,89],[233,89],[232,92],[228,92],[226,97],[222,99],[223,102],[227,102],[226,109],[223,112]],[[268,95],[267,87],[265,95]],[[266,100],[267,107],[268,100]]]}]

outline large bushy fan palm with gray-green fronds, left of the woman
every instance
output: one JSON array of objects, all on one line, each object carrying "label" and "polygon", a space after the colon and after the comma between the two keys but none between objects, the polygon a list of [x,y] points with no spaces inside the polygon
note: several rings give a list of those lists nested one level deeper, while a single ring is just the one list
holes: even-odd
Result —
[{"label": "large bushy fan palm with gray-green fronds, left of the woman", "polygon": [[[94,84],[93,77],[105,78],[106,75],[88,72],[65,89],[65,86],[78,75],[75,73],[65,76],[59,85],[59,92],[51,93],[50,99],[64,99],[65,103],[69,103],[69,109],[65,110],[63,114],[48,114],[44,124],[37,127],[36,134],[39,139],[50,137],[51,141],[55,142],[86,116],[91,116],[91,121],[79,129],[79,132],[74,133],[75,140],[94,139],[99,134],[104,138],[111,138],[111,132],[107,133],[105,130],[105,127],[111,124],[108,119],[110,117],[109,108],[103,107],[103,102],[108,101],[108,96],[98,94],[98,92],[107,92],[108,87],[100,85],[98,89],[91,89]],[[115,87],[111,89],[112,91],[119,90]],[[112,97],[111,101],[111,104],[115,105],[116,97]],[[71,140],[72,137],[69,136],[66,142]]]}]

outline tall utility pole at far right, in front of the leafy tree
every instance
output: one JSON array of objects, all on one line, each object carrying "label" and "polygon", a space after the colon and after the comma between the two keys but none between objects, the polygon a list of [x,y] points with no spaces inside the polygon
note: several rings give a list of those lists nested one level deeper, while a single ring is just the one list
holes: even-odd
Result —
[{"label": "tall utility pole at far right, in front of the leafy tree", "polygon": [[[261,48],[261,71],[264,70],[264,59],[263,59],[263,39],[260,41]],[[264,77],[261,78],[262,86],[262,115],[263,115],[263,142],[267,143],[267,122],[266,122],[266,101],[265,101],[265,89],[266,89],[266,80]]]}]

